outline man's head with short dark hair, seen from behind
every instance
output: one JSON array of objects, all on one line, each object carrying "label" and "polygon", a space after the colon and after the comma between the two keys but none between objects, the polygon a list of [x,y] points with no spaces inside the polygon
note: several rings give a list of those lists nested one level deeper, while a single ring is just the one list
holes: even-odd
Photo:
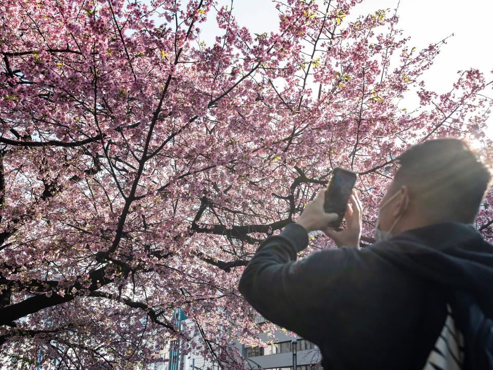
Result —
[{"label": "man's head with short dark hair, seen from behind", "polygon": [[395,224],[397,234],[445,221],[474,221],[491,174],[464,141],[425,141],[395,162],[399,169],[380,205],[380,230]]}]

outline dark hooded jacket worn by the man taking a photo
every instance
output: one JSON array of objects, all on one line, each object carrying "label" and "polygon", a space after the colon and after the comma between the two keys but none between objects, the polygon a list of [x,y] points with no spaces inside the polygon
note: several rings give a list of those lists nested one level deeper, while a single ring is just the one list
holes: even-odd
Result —
[{"label": "dark hooded jacket worn by the man taking a photo", "polygon": [[471,292],[493,316],[493,246],[472,226],[435,224],[296,261],[307,245],[297,224],[269,237],[238,289],[267,320],[318,345],[326,370],[421,370],[449,289]]}]

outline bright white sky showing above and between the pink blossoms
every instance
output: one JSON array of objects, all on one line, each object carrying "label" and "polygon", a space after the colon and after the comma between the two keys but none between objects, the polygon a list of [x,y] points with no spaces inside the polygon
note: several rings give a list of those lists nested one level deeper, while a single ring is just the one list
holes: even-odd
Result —
[{"label": "bright white sky showing above and between the pink blossoms", "polygon": [[[365,0],[353,8],[344,22],[353,21],[358,15],[373,13],[378,9],[397,6],[398,0]],[[219,0],[219,4],[231,4]],[[271,0],[235,0],[233,13],[240,25],[247,26],[252,33],[277,30],[278,17]],[[467,5],[466,5],[467,4]],[[426,87],[437,93],[450,90],[457,80],[457,71],[478,68],[485,73],[486,81],[493,80],[493,48],[491,47],[491,14],[493,1],[469,0],[401,0],[398,14],[399,26],[405,36],[411,36],[409,45],[423,48],[430,43],[443,40],[454,34],[435,59],[433,66],[424,73]],[[212,22],[211,22],[212,21]],[[221,34],[213,26],[215,20],[202,25],[201,39],[207,44]],[[493,84],[489,85],[488,96],[493,98]],[[416,104],[411,99],[409,104]],[[414,106],[409,106],[414,108]],[[493,117],[489,119],[488,136],[493,138]]]}]

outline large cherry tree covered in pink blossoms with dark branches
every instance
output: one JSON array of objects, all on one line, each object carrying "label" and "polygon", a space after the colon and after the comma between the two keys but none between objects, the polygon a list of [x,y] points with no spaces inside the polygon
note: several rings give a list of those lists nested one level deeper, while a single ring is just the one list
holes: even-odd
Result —
[{"label": "large cherry tree covered in pink blossoms with dark branches", "polygon": [[[232,339],[260,345],[276,329],[238,293],[243,267],[334,167],[359,174],[370,243],[410,144],[457,136],[491,157],[491,82],[471,69],[427,90],[446,40],[411,47],[391,10],[348,22],[355,3],[276,2],[278,31],[262,34],[233,2],[0,3],[4,359],[135,368],[151,361],[149,338],[176,337],[243,368]],[[206,20],[220,30],[210,45]],[[409,94],[420,108],[406,110]],[[485,206],[485,237],[492,223]],[[330,247],[312,238],[300,255]],[[178,330],[177,308],[195,331]]]}]

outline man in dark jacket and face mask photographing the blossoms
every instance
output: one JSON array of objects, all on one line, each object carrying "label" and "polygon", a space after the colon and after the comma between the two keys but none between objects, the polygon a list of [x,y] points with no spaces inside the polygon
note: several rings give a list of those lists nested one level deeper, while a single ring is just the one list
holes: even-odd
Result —
[{"label": "man in dark jacket and face mask photographing the blossoms", "polygon": [[[326,370],[491,368],[493,246],[472,225],[489,168],[451,138],[411,146],[395,163],[374,244],[359,247],[357,192],[346,229],[335,231],[321,190],[262,242],[238,290],[264,318],[315,343]],[[339,248],[296,261],[315,230]]]}]

